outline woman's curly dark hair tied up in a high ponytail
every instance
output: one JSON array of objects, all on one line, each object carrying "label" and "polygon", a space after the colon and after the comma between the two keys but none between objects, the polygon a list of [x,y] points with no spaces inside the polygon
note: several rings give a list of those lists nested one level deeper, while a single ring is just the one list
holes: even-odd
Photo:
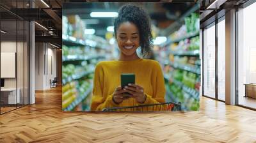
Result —
[{"label": "woman's curly dark hair tied up in a high ponytail", "polygon": [[123,22],[132,22],[138,27],[141,55],[143,57],[148,56],[152,47],[151,23],[148,14],[143,10],[143,8],[132,4],[126,4],[120,8],[118,11],[118,17],[114,20],[115,35],[116,30]]}]

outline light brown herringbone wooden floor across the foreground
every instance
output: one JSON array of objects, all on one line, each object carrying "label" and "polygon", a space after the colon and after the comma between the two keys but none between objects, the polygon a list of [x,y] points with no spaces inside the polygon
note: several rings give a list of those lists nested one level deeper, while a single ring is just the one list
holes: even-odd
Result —
[{"label": "light brown herringbone wooden floor across the foreground", "polygon": [[61,111],[61,88],[0,116],[0,142],[256,142],[256,112],[201,98],[199,112]]}]

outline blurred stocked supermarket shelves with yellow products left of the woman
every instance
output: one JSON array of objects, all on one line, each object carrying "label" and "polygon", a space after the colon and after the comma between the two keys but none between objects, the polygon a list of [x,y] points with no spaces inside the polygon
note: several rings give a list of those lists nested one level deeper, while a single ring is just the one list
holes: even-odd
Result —
[{"label": "blurred stocked supermarket shelves with yellow products left of the woman", "polygon": [[63,16],[62,109],[65,111],[90,110],[95,66],[108,58],[108,42],[84,34],[85,28],[79,15]]}]

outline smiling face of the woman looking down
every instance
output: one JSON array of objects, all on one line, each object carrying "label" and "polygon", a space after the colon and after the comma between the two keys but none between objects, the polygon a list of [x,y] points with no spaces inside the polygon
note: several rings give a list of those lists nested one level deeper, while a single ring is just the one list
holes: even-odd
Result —
[{"label": "smiling face of the woman looking down", "polygon": [[136,54],[136,49],[140,46],[138,27],[132,22],[123,22],[116,30],[116,40],[124,56]]}]

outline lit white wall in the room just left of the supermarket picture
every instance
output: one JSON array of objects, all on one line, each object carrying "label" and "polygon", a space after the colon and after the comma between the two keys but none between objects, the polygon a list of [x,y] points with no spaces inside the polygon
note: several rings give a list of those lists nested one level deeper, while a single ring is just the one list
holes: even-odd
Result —
[{"label": "lit white wall in the room just left of the supermarket picture", "polygon": [[36,43],[36,90],[51,88],[50,79],[56,77],[56,49],[53,48],[49,43]]}]

